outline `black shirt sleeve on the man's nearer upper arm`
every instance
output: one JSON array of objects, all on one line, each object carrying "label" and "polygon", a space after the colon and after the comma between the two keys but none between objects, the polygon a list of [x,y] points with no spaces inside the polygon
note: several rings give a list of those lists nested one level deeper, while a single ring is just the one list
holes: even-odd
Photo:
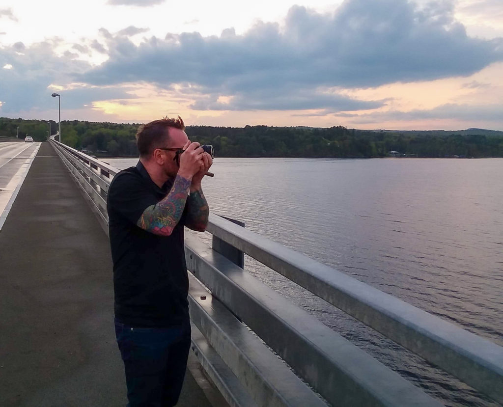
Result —
[{"label": "black shirt sleeve on the man's nearer upper arm", "polygon": [[157,204],[154,192],[135,174],[121,173],[110,185],[108,205],[135,224],[145,209]]}]

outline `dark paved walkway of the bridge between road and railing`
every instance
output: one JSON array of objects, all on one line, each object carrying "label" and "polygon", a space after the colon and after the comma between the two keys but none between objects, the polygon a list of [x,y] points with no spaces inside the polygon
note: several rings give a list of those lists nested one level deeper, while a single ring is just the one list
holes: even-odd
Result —
[{"label": "dark paved walkway of the bridge between road and railing", "polygon": [[[126,404],[109,250],[43,143],[0,231],[0,405]],[[210,405],[190,373],[178,405]]]}]

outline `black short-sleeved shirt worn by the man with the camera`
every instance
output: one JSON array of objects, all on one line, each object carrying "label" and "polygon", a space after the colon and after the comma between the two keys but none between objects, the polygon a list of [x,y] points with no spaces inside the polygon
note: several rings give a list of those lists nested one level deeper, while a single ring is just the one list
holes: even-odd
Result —
[{"label": "black short-sleeved shirt worn by the man with the camera", "polygon": [[108,190],[110,246],[114,263],[115,318],[138,327],[189,323],[189,279],[185,263],[182,218],[170,236],[157,236],[136,226],[146,208],[172,187],[159,188],[138,162],[119,172]]}]

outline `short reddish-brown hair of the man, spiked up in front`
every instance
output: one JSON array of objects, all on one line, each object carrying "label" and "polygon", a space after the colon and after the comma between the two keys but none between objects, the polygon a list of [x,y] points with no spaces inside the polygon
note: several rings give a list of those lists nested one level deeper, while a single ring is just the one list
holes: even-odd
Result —
[{"label": "short reddish-brown hair of the man, spiked up in front", "polygon": [[184,121],[179,116],[178,119],[163,118],[141,125],[136,133],[136,146],[140,157],[148,157],[152,152],[169,140],[169,128],[185,130]]}]

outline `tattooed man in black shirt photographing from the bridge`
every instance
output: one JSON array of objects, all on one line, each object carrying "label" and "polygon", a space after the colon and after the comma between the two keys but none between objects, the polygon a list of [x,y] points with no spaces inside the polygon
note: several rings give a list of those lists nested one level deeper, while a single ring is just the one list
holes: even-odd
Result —
[{"label": "tattooed man in black shirt photographing from the bridge", "polygon": [[115,330],[130,407],[175,405],[187,366],[184,226],[206,229],[201,180],[212,159],[184,129],[180,116],[141,126],[138,164],[108,191]]}]

